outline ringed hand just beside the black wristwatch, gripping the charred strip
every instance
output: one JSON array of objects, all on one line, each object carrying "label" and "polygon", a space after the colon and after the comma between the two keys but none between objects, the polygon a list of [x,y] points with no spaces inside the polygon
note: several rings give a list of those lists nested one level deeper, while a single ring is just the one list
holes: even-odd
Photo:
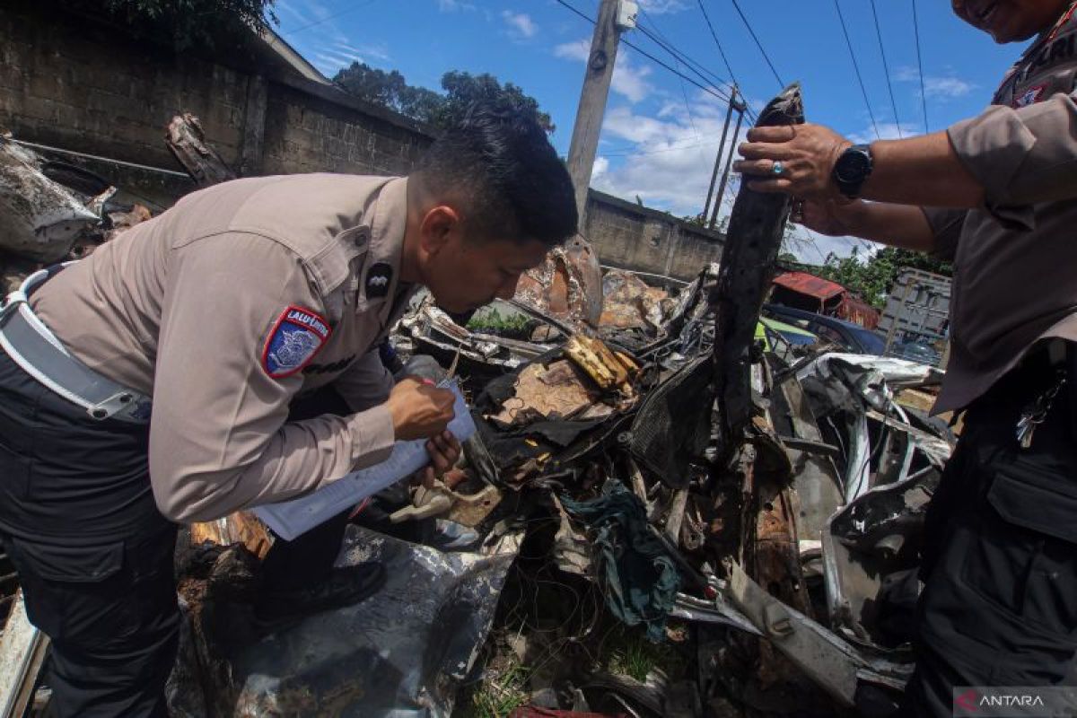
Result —
[{"label": "ringed hand just beside the black wristwatch, gripping the charred strip", "polygon": [[[756,192],[784,192],[805,199],[841,197],[831,179],[834,164],[852,142],[822,125],[782,125],[749,130],[733,169]],[[775,165],[780,163],[780,165]],[[780,167],[781,173],[774,168]]]}]

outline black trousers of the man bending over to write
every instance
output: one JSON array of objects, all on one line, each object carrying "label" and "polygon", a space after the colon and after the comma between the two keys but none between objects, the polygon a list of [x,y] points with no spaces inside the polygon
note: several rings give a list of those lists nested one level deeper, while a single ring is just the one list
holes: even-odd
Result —
[{"label": "black trousers of the man bending over to write", "polygon": [[[293,418],[342,406],[316,395]],[[0,351],[0,540],[30,621],[52,639],[48,685],[60,718],[168,715],[177,526],[153,501],[148,441],[148,427],[90,419]],[[267,589],[322,578],[346,522],[344,513],[276,544]]]}]

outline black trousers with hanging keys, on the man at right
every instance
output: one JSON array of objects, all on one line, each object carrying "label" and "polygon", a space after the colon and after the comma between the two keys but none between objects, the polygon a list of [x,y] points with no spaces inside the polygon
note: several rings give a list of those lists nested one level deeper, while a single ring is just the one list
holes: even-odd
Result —
[{"label": "black trousers with hanging keys, on the man at right", "polygon": [[[1077,653],[1077,446],[1064,388],[1021,449],[1032,366],[974,405],[927,513],[917,668],[904,715],[953,715],[956,686],[1050,686]],[[1071,384],[1074,383],[1071,379]]]}]

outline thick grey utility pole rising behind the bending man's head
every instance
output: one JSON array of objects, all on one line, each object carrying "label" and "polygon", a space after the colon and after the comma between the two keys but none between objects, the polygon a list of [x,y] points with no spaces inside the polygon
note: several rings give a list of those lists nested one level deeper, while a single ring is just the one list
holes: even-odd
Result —
[{"label": "thick grey utility pole rising behind the bending man's head", "polygon": [[599,18],[595,24],[591,52],[584,74],[584,89],[579,93],[576,124],[572,128],[572,144],[569,146],[569,174],[572,175],[572,183],[576,188],[576,211],[579,213],[581,230],[584,228],[587,188],[590,186],[591,168],[595,166],[595,154],[598,152],[602,115],[605,114],[613,66],[617,59],[617,41],[620,39],[621,30],[631,27],[617,22],[620,4],[621,0],[602,0],[599,6]]}]

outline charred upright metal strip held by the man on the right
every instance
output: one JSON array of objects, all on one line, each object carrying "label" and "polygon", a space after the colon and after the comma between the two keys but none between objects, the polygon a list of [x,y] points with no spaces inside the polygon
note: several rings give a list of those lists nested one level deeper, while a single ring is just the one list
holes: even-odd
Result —
[{"label": "charred upright metal strip held by the man on the right", "polygon": [[[756,127],[802,123],[800,85],[794,83],[759,113]],[[752,416],[749,367],[755,325],[774,274],[789,206],[788,195],[755,192],[742,183],[729,219],[718,281],[711,295],[716,310],[714,378],[723,453],[737,446]]]}]

